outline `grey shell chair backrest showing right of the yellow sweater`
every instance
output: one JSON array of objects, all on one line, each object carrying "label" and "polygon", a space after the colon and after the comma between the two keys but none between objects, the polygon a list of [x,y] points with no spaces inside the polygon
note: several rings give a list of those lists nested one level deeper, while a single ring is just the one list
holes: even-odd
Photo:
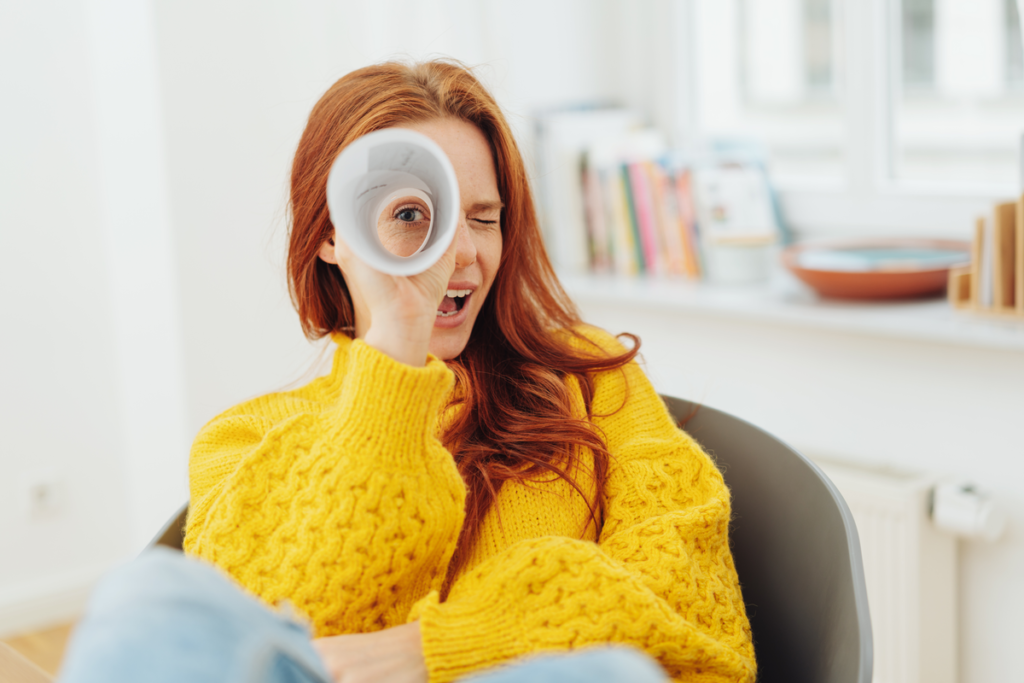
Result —
[{"label": "grey shell chair backrest showing right of the yellow sweater", "polygon": [[870,683],[867,588],[843,496],[768,432],[707,405],[662,398],[732,492],[732,553],[760,683]]}]

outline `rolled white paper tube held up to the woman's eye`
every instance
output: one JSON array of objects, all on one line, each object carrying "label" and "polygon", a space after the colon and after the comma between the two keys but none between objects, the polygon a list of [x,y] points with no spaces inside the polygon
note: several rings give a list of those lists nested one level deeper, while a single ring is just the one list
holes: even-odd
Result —
[{"label": "rolled white paper tube held up to the woman's eye", "polygon": [[[377,217],[385,198],[416,189],[431,203],[427,239],[412,256],[381,244]],[[368,133],[345,147],[327,180],[334,228],[356,257],[381,272],[415,275],[437,262],[455,239],[459,181],[444,152],[426,135],[403,128]]]}]

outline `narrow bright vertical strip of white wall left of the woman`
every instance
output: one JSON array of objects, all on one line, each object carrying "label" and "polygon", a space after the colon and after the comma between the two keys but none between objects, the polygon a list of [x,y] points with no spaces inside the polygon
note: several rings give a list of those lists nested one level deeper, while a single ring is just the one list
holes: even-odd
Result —
[{"label": "narrow bright vertical strip of white wall left of the woman", "polygon": [[180,319],[146,3],[87,0],[97,180],[131,515],[140,549],[187,497]]}]

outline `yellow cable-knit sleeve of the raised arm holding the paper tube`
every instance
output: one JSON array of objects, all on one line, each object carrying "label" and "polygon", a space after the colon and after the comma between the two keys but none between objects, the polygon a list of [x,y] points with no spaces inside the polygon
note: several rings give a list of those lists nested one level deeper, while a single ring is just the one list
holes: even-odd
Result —
[{"label": "yellow cable-knit sleeve of the raised arm holding the paper tube", "polygon": [[462,525],[465,486],[433,433],[452,383],[439,360],[414,369],[356,341],[336,400],[214,420],[193,446],[186,552],[289,600],[317,635],[402,623]]}]

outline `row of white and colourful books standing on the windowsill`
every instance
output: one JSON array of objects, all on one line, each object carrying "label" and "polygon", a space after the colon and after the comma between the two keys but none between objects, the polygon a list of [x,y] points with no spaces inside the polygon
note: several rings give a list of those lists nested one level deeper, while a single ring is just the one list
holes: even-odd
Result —
[{"label": "row of white and colourful books standing on the windowsill", "polygon": [[538,198],[555,267],[716,282],[757,275],[737,268],[751,270],[784,237],[760,161],[742,146],[671,151],[640,121],[615,108],[536,119]]}]

